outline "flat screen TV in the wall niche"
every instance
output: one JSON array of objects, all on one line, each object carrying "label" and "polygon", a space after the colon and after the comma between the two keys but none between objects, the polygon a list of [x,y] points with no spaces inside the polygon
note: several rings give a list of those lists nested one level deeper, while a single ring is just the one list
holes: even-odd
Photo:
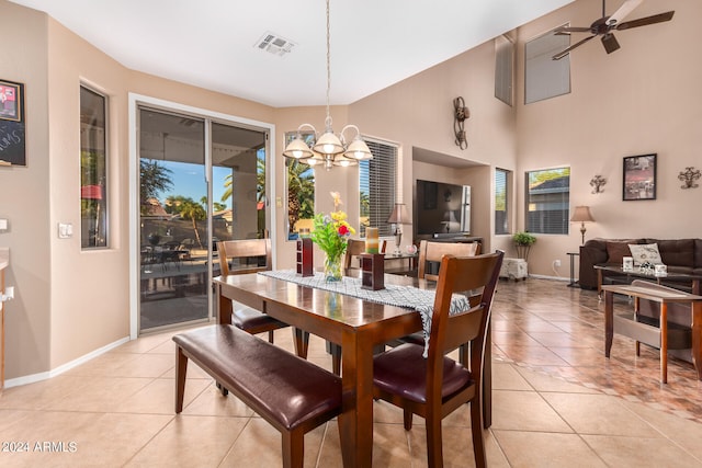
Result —
[{"label": "flat screen TV in the wall niche", "polygon": [[417,180],[418,236],[471,233],[471,186]]}]

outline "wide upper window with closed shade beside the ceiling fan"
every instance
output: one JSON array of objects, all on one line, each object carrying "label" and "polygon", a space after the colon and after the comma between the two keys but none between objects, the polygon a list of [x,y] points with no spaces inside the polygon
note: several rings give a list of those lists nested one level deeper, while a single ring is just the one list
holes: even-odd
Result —
[{"label": "wide upper window with closed shade beside the ceiling fan", "polygon": [[570,92],[570,55],[553,59],[569,43],[569,35],[550,32],[524,45],[524,104]]}]

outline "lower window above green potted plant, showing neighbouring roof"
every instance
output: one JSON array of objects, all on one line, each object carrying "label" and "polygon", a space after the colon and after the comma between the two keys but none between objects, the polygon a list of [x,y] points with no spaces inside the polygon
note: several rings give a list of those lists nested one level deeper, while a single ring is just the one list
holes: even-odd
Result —
[{"label": "lower window above green potted plant, showing neighbouring roof", "polygon": [[568,233],[570,168],[526,173],[526,230],[540,233]]}]

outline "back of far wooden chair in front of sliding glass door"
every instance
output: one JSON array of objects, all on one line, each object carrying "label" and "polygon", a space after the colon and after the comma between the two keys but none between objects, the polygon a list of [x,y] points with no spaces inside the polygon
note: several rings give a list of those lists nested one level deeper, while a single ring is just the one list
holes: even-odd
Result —
[{"label": "back of far wooden chair in front of sliding glass door", "polygon": [[273,263],[271,239],[224,240],[217,242],[217,252],[223,276],[271,270]]}]

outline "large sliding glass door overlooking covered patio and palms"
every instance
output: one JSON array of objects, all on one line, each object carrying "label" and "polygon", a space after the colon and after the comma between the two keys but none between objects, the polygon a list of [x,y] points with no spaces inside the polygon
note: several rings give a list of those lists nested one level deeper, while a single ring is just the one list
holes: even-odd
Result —
[{"label": "large sliding glass door overlooking covered patio and palms", "polygon": [[267,232],[265,136],[139,110],[139,332],[208,320],[216,242]]}]

